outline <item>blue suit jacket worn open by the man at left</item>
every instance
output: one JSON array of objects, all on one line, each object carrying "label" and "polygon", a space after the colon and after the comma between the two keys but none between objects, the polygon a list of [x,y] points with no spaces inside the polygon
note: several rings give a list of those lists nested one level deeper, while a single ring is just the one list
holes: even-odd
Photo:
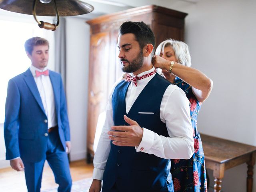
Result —
[{"label": "blue suit jacket worn open by the man at left", "polygon": [[[58,132],[63,149],[70,141],[66,98],[60,74],[50,71]],[[48,124],[42,100],[30,69],[8,83],[4,121],[6,160],[20,156],[26,162],[45,158]]]}]

